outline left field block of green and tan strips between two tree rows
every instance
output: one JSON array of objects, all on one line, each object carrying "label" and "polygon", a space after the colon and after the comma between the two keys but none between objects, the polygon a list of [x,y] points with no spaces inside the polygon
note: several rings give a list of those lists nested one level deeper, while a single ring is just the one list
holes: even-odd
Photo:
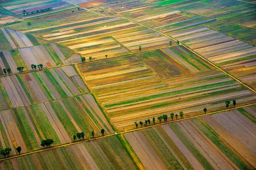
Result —
[{"label": "left field block of green and tan strips between two tree rows", "polygon": [[42,148],[43,139],[54,145],[72,142],[78,132],[100,129],[112,133],[104,114],[72,66],[0,78],[1,148]]}]

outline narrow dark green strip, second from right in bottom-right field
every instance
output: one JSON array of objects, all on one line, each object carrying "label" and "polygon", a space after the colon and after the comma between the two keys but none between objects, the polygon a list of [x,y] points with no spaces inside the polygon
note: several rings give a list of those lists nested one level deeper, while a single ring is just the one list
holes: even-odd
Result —
[{"label": "narrow dark green strip, second from right in bottom-right field", "polygon": [[202,164],[202,166],[207,170],[214,170],[211,164],[204,158],[204,156],[194,147],[193,143],[190,142],[186,134],[178,127],[177,123],[169,124],[176,135],[182,140],[186,147],[192,152],[192,154],[197,158],[197,160]]}]

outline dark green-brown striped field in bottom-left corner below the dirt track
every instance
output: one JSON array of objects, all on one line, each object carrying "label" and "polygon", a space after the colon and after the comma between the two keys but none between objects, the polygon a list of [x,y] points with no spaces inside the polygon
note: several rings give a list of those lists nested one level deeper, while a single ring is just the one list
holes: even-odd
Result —
[{"label": "dark green-brown striped field in bottom-left corner below the dirt track", "polygon": [[117,137],[79,143],[0,162],[6,169],[131,169],[134,162]]}]

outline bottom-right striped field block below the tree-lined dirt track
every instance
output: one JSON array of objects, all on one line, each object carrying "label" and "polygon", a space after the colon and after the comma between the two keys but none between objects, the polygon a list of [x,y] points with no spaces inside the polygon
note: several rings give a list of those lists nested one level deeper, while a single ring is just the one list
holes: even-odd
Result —
[{"label": "bottom-right striped field block below the tree-lined dirt track", "polygon": [[146,169],[254,169],[255,111],[249,106],[124,136]]}]

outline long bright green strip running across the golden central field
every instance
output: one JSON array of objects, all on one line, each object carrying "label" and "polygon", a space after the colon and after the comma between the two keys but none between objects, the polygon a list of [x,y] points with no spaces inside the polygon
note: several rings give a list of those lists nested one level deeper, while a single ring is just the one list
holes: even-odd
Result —
[{"label": "long bright green strip running across the golden central field", "polygon": [[109,104],[109,105],[106,105],[104,107],[108,108],[108,107],[119,106],[119,105],[123,105],[123,104],[130,104],[130,103],[134,103],[134,102],[140,102],[140,101],[143,101],[143,100],[150,100],[150,99],[154,99],[154,98],[160,98],[160,97],[165,97],[165,96],[182,94],[182,93],[186,93],[186,92],[193,92],[195,90],[204,90],[206,88],[213,88],[213,87],[218,88],[219,86],[226,85],[226,84],[231,84],[232,82],[234,82],[234,80],[230,80],[230,81],[227,81],[227,82],[215,83],[215,84],[208,84],[208,85],[204,85],[204,86],[200,86],[200,87],[188,88],[188,89],[185,89],[185,90],[177,90],[177,91],[174,91],[174,92],[167,92],[167,93],[163,93],[163,94],[156,94],[156,95],[143,97],[143,98],[138,98],[138,99],[135,99],[135,100],[125,101],[125,102],[121,102],[121,103]]}]

